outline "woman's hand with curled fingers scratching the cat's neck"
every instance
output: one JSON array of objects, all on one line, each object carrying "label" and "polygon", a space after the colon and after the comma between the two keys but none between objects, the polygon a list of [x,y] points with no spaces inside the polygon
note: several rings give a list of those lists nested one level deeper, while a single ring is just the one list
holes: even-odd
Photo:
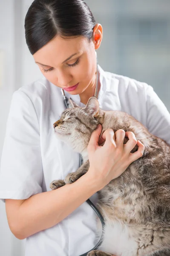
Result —
[{"label": "woman's hand with curled fingers scratching the cat's neck", "polygon": [[[122,129],[115,133],[112,129],[104,131],[101,141],[105,140],[105,143],[99,146],[101,130],[102,126],[99,125],[89,140],[87,150],[90,167],[88,173],[106,186],[111,180],[120,176],[133,161],[142,157],[145,147],[139,140],[136,140],[133,132],[125,132]],[[129,138],[126,144],[123,144],[124,137]],[[138,151],[130,153],[136,144]]]}]

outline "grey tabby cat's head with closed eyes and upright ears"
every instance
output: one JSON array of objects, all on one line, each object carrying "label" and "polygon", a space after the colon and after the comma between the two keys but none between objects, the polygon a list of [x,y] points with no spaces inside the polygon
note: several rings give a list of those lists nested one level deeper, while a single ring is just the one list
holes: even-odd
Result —
[{"label": "grey tabby cat's head with closed eyes and upright ears", "polygon": [[68,103],[69,108],[54,123],[55,134],[81,153],[87,148],[92,132],[102,123],[104,111],[99,108],[95,97],[89,98],[86,107],[79,107],[72,99]]}]

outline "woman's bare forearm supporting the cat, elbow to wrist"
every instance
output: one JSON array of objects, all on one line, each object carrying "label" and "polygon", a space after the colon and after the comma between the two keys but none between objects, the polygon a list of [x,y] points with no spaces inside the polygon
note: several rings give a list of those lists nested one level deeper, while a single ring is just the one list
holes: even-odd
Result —
[{"label": "woman's bare forearm supporting the cat, elbow to wrist", "polygon": [[72,184],[32,195],[20,205],[14,235],[25,239],[58,224],[101,188],[87,172]]}]

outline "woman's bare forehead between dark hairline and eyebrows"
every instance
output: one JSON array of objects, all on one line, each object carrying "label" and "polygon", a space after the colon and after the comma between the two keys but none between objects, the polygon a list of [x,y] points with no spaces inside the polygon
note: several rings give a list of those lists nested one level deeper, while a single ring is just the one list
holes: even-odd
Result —
[{"label": "woman's bare forehead between dark hairline and eyebrows", "polygon": [[33,57],[37,62],[58,67],[66,58],[76,52],[80,52],[79,54],[83,53],[87,47],[88,40],[83,36],[65,39],[57,35],[49,43],[35,52]]}]

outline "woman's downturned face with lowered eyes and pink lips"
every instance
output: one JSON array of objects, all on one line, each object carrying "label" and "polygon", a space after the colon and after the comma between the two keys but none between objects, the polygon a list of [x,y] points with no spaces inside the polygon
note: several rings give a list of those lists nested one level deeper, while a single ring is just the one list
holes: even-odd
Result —
[{"label": "woman's downturned face with lowered eyes and pink lips", "polygon": [[81,94],[94,83],[96,73],[95,43],[80,36],[64,39],[57,35],[33,55],[40,71],[52,84],[68,88],[78,84],[70,94]]}]

